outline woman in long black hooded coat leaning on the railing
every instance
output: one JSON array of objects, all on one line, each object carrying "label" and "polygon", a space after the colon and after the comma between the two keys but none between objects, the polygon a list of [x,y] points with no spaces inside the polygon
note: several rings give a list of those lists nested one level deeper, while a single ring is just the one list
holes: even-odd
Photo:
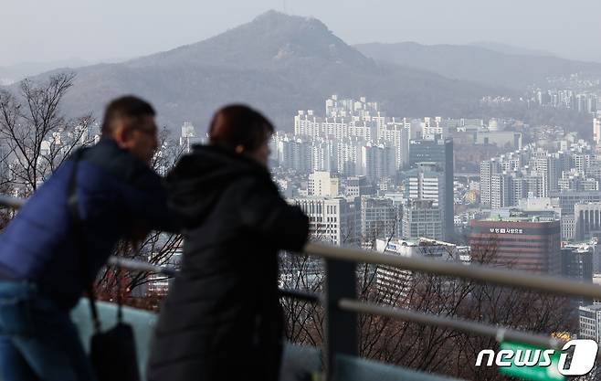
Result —
[{"label": "woman in long black hooded coat leaning on the railing", "polygon": [[228,106],[211,122],[210,144],[168,176],[184,258],[156,327],[149,381],[278,379],[278,251],[302,249],[309,219],[271,180],[272,133],[257,111]]}]

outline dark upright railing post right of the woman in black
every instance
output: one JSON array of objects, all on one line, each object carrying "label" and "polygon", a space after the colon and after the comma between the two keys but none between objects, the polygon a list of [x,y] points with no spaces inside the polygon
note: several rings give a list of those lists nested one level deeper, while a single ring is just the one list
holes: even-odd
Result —
[{"label": "dark upright railing post right of the woman in black", "polygon": [[357,298],[356,263],[339,259],[325,260],[325,355],[326,381],[333,381],[336,355],[354,355],[359,349],[357,314],[338,307],[341,298]]}]

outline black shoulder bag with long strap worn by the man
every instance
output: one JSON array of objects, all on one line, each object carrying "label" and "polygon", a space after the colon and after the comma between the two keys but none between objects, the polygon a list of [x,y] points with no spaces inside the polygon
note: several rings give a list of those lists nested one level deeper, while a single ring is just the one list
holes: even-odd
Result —
[{"label": "black shoulder bag with long strap worn by the man", "polygon": [[100,319],[94,293],[94,278],[92,276],[92,279],[88,279],[90,258],[78,207],[77,172],[83,151],[84,149],[79,149],[73,154],[72,160],[74,163],[69,177],[68,206],[71,228],[78,240],[77,249],[79,250],[81,277],[88,293],[94,326],[94,334],[90,342],[90,361],[99,381],[140,381],[132,325],[122,322],[121,280],[118,280],[120,290],[117,291],[117,324],[108,331],[102,332],[100,330]]}]

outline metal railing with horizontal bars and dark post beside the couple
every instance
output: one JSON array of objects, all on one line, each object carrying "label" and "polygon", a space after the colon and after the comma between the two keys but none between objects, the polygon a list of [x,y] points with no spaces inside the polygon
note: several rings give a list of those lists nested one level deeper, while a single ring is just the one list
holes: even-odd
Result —
[{"label": "metal railing with horizontal bars and dark post beside the couple", "polygon": [[[0,206],[18,208],[23,199],[0,196]],[[502,326],[478,323],[459,318],[442,317],[431,313],[416,312],[389,305],[361,302],[357,300],[357,263],[391,266],[439,276],[475,280],[481,283],[494,283],[521,289],[542,291],[565,296],[587,297],[601,300],[601,286],[566,280],[544,275],[534,275],[525,271],[501,270],[476,264],[469,266],[459,263],[432,259],[416,259],[382,254],[363,249],[349,249],[309,243],[304,253],[325,259],[324,293],[311,293],[296,290],[280,290],[282,297],[297,298],[305,302],[322,303],[325,311],[325,334],[323,355],[325,356],[326,379],[332,379],[336,355],[358,355],[357,314],[374,314],[394,319],[446,327],[463,333],[472,333],[494,338],[498,342],[515,341],[552,349],[561,349],[564,341],[550,335],[529,333],[508,329]],[[153,265],[133,259],[111,257],[109,263],[127,270],[147,271],[176,275],[177,270]]]}]

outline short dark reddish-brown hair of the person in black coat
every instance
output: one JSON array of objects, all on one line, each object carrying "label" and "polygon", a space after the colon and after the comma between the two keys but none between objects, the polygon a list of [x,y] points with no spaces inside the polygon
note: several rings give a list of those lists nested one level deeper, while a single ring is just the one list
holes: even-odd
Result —
[{"label": "short dark reddish-brown hair of the person in black coat", "polygon": [[260,112],[241,104],[216,111],[209,127],[209,143],[228,150],[242,145],[248,152],[258,149],[274,132],[273,124]]}]

